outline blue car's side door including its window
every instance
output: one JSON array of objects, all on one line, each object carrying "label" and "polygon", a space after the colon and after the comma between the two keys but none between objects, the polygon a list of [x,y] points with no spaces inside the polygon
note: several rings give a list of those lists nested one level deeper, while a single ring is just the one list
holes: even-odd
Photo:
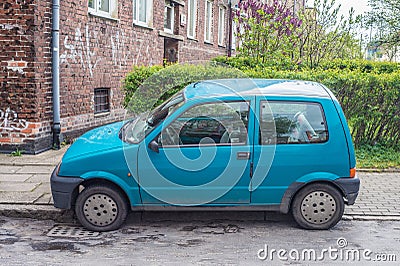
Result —
[{"label": "blue car's side door including its window", "polygon": [[196,102],[149,135],[138,151],[143,204],[248,204],[253,102]]}]

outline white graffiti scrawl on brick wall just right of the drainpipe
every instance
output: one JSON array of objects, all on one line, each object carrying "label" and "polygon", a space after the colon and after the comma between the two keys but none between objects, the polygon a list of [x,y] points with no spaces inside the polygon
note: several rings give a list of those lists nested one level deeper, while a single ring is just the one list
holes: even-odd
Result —
[{"label": "white graffiti scrawl on brick wall just right of the drainpipe", "polygon": [[[97,57],[96,52],[93,49],[94,47],[99,46],[99,39],[97,38],[98,36],[96,32],[89,32],[88,25],[85,27],[85,36],[84,39],[80,27],[75,29],[75,36],[72,40],[69,39],[68,35],[65,36],[65,51],[60,55],[60,63],[70,64],[70,61],[80,63],[83,69],[88,70],[90,76],[93,76],[94,69],[101,61],[101,58]],[[91,47],[90,40],[94,40],[94,47]]]}]

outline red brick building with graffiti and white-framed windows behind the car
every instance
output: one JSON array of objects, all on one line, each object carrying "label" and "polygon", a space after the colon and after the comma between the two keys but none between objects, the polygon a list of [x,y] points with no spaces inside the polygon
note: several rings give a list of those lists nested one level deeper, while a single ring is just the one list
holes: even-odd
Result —
[{"label": "red brick building with graffiti and white-framed windows behind the car", "polygon": [[[54,0],[53,0],[54,1]],[[0,151],[53,146],[53,64],[59,53],[61,132],[120,120],[132,65],[207,60],[229,50],[228,0],[52,0],[0,3]]]}]

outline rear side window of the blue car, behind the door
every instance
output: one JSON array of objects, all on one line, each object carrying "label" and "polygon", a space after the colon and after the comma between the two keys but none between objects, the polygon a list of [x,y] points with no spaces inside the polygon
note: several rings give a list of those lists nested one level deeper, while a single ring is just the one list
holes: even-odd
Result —
[{"label": "rear side window of the blue car, behind the door", "polygon": [[260,144],[322,143],[327,140],[325,115],[319,103],[261,101]]}]

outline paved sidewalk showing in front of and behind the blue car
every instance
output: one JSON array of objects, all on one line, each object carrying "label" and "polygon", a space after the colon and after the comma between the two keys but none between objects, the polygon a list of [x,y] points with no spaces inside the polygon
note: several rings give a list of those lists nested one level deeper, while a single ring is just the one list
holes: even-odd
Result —
[{"label": "paved sidewalk showing in front of and behind the blue car", "polygon": [[[39,155],[0,154],[0,215],[54,217],[64,212],[52,206],[50,175],[68,147]],[[348,219],[400,220],[400,172],[360,171],[356,204],[346,206]],[[29,217],[29,216],[28,216]]]}]

